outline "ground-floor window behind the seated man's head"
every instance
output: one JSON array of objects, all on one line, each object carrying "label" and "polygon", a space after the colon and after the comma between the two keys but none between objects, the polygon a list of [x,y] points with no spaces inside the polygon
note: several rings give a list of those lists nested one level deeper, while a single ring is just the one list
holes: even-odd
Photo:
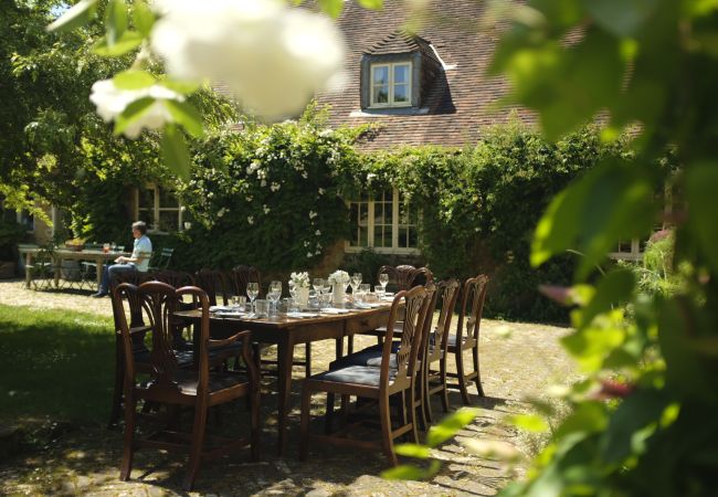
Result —
[{"label": "ground-floor window behind the seated man's head", "polygon": [[135,190],[135,219],[147,223],[147,231],[169,233],[184,226],[184,209],[172,191],[148,184]]}]

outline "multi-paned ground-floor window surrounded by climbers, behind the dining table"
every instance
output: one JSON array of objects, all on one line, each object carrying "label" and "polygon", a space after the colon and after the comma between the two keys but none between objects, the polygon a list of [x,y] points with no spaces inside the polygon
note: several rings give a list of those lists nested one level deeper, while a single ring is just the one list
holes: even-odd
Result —
[{"label": "multi-paned ground-floor window surrounded by climbers, behind the dining table", "polygon": [[351,236],[347,252],[372,248],[388,254],[419,252],[418,214],[400,199],[397,189],[363,195],[349,202]]}]

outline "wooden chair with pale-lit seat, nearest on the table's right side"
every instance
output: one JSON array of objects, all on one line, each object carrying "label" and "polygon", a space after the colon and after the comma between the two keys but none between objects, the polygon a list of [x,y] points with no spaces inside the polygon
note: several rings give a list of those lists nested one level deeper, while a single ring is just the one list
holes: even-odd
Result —
[{"label": "wooden chair with pale-lit seat, nearest on the table's right side", "polygon": [[[304,382],[302,389],[302,427],[299,442],[299,458],[306,461],[309,443],[330,443],[340,446],[355,446],[365,450],[383,450],[392,465],[397,465],[397,454],[393,441],[404,434],[411,434],[418,443],[419,434],[414,410],[410,410],[406,419],[406,396],[409,405],[414,404],[413,383],[416,378],[416,357],[421,341],[422,328],[429,307],[430,294],[423,286],[400,292],[394,297],[389,313],[387,340],[382,349],[380,366],[348,366],[312,376]],[[401,347],[392,352],[392,334],[401,304],[404,305],[404,326]],[[357,423],[344,426],[335,434],[313,434],[309,432],[310,399],[316,392],[327,394],[353,395],[371,399],[379,404],[379,424],[381,442],[350,438],[340,436]],[[399,398],[398,426],[393,426],[390,411],[390,399]]]}]

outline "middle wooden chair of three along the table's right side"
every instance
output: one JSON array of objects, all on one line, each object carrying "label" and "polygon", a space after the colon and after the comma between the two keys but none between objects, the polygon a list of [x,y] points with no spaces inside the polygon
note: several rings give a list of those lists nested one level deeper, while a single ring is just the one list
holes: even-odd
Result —
[{"label": "middle wooden chair of three along the table's right side", "polygon": [[[424,409],[426,421],[433,423],[433,413],[431,409],[432,395],[441,394],[441,402],[444,412],[448,412],[448,390],[446,385],[446,357],[448,349],[448,336],[451,335],[452,319],[454,308],[458,298],[460,283],[457,279],[445,279],[440,282],[437,287],[439,322],[429,335],[426,345],[426,361],[423,363],[424,381]],[[439,362],[439,370],[434,370],[432,364]]]}]

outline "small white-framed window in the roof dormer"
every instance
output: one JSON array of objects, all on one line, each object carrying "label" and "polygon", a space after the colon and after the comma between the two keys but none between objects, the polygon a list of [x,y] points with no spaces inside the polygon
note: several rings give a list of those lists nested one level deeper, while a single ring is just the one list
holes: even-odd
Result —
[{"label": "small white-framed window in the roof dormer", "polygon": [[411,62],[371,64],[370,107],[411,106]]}]

